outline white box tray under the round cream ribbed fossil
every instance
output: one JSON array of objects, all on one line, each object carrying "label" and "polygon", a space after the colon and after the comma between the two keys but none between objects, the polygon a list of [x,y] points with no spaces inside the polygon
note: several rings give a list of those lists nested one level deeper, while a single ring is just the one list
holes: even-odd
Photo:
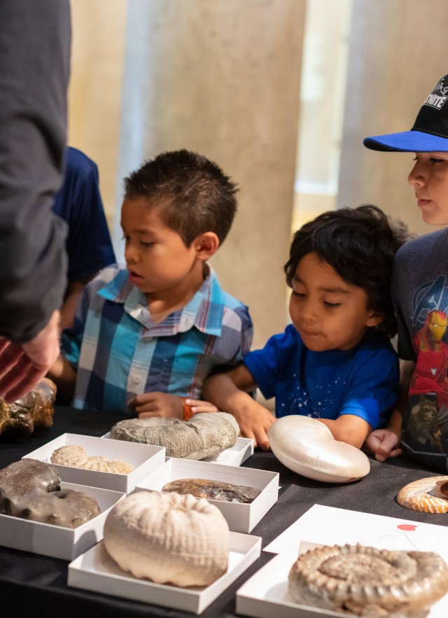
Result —
[{"label": "white box tray under the round cream ribbed fossil", "polygon": [[179,588],[139,580],[111,559],[101,542],[69,564],[68,585],[133,601],[200,614],[260,556],[261,538],[230,533],[227,573],[206,588]]}]

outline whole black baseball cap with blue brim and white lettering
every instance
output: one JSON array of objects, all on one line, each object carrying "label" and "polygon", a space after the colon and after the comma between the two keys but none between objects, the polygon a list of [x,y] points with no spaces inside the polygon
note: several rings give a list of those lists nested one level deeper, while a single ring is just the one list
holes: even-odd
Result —
[{"label": "whole black baseball cap with blue brim and white lettering", "polygon": [[402,153],[448,152],[448,75],[426,97],[410,131],[366,137],[371,150]]}]

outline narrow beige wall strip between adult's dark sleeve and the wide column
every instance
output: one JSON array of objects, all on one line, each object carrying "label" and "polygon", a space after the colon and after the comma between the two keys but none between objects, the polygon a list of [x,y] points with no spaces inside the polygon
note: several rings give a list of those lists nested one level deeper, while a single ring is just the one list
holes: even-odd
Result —
[{"label": "narrow beige wall strip between adult's dark sleeve and the wide column", "polygon": [[121,124],[127,0],[73,0],[69,144],[99,167],[113,224]]}]

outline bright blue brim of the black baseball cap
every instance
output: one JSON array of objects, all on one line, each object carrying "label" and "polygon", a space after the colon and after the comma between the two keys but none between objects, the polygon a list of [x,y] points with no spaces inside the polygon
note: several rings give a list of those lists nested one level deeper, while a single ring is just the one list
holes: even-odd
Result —
[{"label": "bright blue brim of the black baseball cap", "polygon": [[444,153],[448,152],[448,139],[423,133],[405,131],[388,135],[366,137],[363,144],[370,150],[386,150],[401,153]]}]

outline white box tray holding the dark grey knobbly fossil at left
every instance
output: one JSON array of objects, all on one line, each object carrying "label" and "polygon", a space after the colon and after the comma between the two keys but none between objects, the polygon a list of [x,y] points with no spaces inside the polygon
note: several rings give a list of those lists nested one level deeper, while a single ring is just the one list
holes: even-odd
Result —
[{"label": "white box tray holding the dark grey knobbly fossil at left", "polygon": [[0,515],[0,545],[52,558],[73,560],[102,540],[104,521],[111,508],[125,497],[125,493],[64,482],[61,483],[61,489],[83,491],[97,500],[101,513],[78,528],[62,528],[40,521]]}]

